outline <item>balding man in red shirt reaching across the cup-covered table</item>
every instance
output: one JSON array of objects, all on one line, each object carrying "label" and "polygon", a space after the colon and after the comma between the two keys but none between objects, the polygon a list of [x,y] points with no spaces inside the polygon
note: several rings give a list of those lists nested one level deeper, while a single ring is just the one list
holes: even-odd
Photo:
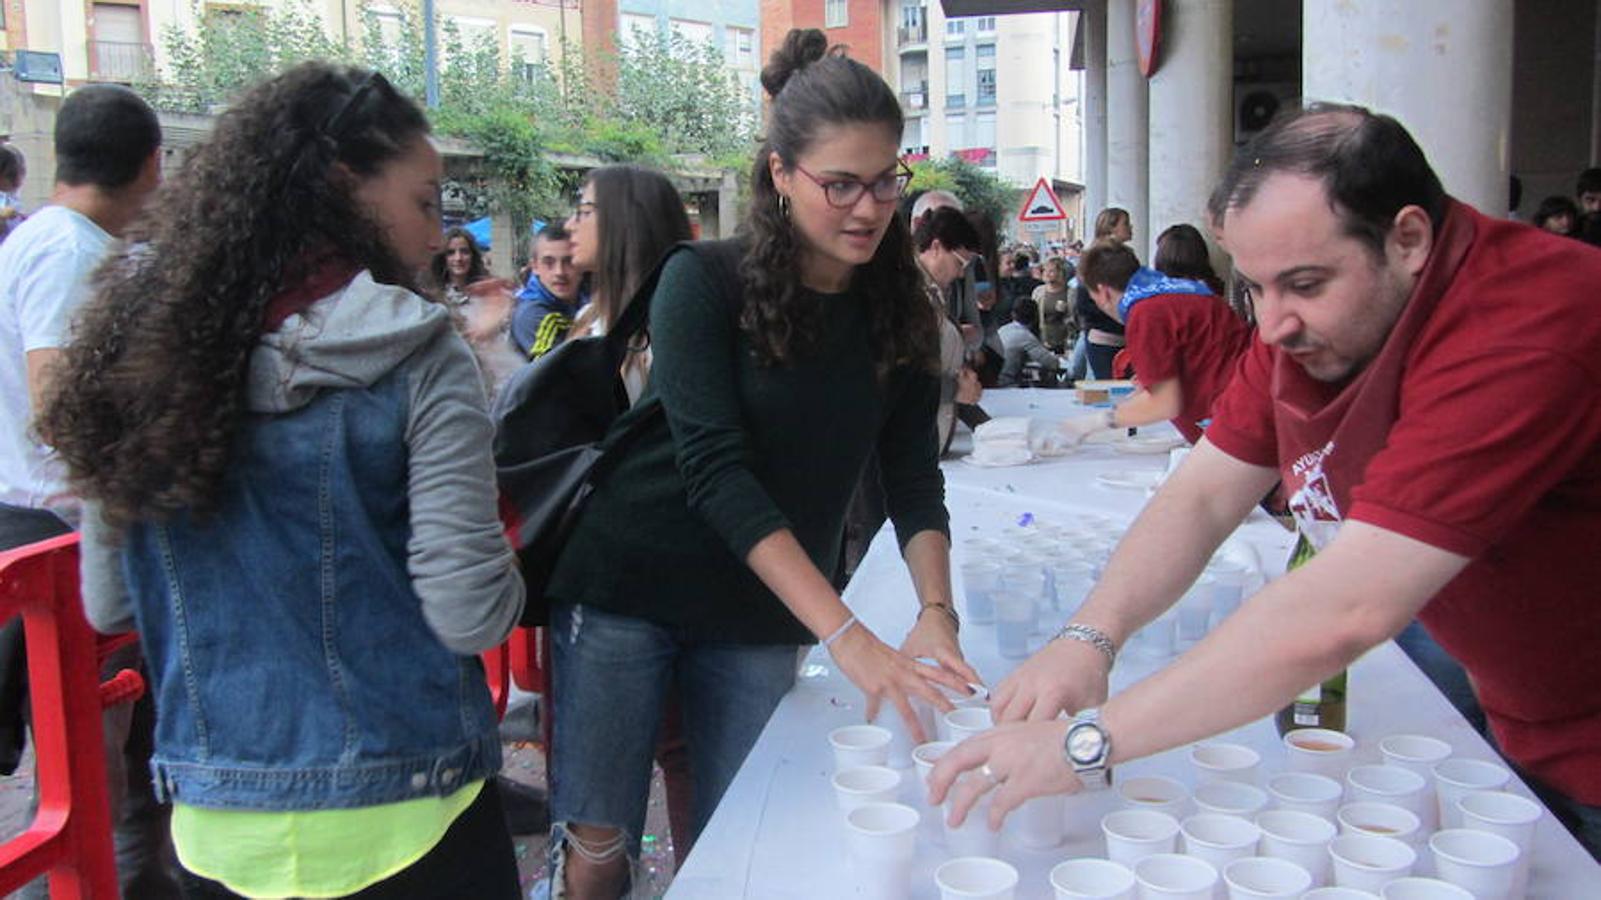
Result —
[{"label": "balding man in red shirt reaching across the cup-covered table", "polygon": [[[1346,106],[1263,131],[1210,211],[1262,341],[1065,639],[994,692],[1010,724],[953,749],[933,799],[988,765],[957,788],[957,817],[999,785],[999,820],[1266,716],[1417,617],[1473,677],[1502,751],[1596,854],[1601,253],[1449,199],[1398,122]],[[1318,554],[1087,714],[1116,647],[1278,479]]]}]

